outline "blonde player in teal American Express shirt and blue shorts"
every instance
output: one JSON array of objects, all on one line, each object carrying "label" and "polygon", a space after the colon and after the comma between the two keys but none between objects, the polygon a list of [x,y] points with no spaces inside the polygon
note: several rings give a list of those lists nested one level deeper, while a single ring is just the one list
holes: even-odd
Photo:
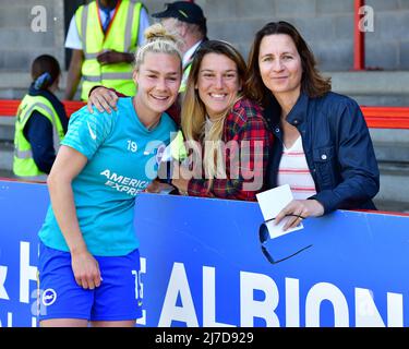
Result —
[{"label": "blonde player in teal American Express shirt and blue shorts", "polygon": [[39,231],[41,326],[134,326],[141,317],[135,195],[157,174],[176,127],[165,112],[181,81],[178,39],[159,24],[135,55],[134,97],[112,113],[86,107],[70,119],[48,178]]}]

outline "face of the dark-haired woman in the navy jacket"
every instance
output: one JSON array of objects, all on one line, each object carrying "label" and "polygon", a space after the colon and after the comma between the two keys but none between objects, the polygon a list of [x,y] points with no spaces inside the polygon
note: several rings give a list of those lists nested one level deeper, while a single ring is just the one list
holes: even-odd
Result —
[{"label": "face of the dark-haired woman in the navy jacket", "polygon": [[263,83],[274,96],[298,98],[301,91],[302,64],[289,35],[273,34],[263,37],[258,67]]}]

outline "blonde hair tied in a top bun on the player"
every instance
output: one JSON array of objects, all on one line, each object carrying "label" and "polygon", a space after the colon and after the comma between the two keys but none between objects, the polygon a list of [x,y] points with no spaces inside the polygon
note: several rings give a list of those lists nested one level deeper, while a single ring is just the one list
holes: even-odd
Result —
[{"label": "blonde hair tied in a top bun on the player", "polygon": [[177,33],[170,33],[160,23],[156,23],[146,28],[144,36],[145,44],[140,46],[135,52],[135,70],[140,69],[148,52],[175,55],[180,59],[182,65],[182,52],[180,51],[182,41]]}]

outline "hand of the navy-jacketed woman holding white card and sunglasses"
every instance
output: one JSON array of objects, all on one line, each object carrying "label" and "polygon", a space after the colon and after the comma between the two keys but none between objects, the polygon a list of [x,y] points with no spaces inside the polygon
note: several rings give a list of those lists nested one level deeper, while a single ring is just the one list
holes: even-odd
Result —
[{"label": "hand of the navy-jacketed woman holding white card and sunglasses", "polygon": [[284,230],[296,228],[306,217],[320,217],[324,214],[324,206],[317,200],[293,200],[277,215],[278,225],[285,217],[289,217]]}]

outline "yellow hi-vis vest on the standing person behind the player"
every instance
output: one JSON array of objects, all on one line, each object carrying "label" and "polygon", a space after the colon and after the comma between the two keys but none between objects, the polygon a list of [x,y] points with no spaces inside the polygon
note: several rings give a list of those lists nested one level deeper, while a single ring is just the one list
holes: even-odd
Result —
[{"label": "yellow hi-vis vest on the standing person behind the player", "polygon": [[132,63],[101,65],[96,58],[98,53],[108,49],[128,53],[135,51],[141,8],[141,2],[120,1],[109,24],[107,36],[99,23],[97,1],[81,5],[76,10],[75,23],[84,52],[81,93],[83,100],[88,99],[89,89],[95,85],[112,87],[127,96],[135,94]]}]

